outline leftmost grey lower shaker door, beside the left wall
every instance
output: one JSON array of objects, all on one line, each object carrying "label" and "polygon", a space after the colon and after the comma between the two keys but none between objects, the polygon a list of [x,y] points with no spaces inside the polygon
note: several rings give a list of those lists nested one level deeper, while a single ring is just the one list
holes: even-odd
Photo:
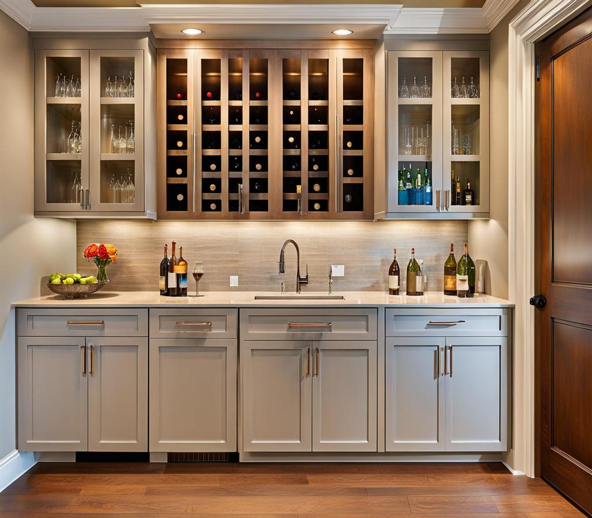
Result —
[{"label": "leftmost grey lower shaker door, beside the left wall", "polygon": [[18,449],[86,451],[84,338],[18,339]]}]

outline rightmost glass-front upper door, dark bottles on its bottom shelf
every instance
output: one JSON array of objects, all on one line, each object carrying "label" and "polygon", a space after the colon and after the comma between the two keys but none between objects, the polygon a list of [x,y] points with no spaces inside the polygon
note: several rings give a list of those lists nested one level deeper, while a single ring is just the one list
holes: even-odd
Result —
[{"label": "rightmost glass-front upper door, dark bottles on its bottom shelf", "polygon": [[488,52],[443,53],[445,212],[489,212],[488,70]]}]

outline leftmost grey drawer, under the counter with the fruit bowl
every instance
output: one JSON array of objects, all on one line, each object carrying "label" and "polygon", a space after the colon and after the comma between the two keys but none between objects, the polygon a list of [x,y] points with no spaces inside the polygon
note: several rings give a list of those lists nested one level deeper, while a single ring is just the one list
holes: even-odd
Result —
[{"label": "leftmost grey drawer, under the counter with the fruit bowl", "polygon": [[148,310],[22,308],[18,336],[148,336]]}]

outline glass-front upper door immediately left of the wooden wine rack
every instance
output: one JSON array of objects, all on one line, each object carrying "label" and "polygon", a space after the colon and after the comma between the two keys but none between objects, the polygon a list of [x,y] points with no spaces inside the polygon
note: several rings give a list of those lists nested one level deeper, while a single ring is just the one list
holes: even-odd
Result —
[{"label": "glass-front upper door immediately left of the wooden wine rack", "polygon": [[143,50],[90,53],[90,210],[144,210]]}]

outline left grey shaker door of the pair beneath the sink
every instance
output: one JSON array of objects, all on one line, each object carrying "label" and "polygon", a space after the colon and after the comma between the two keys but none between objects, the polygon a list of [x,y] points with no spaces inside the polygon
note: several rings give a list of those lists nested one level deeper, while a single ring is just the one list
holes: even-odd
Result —
[{"label": "left grey shaker door of the pair beneath the sink", "polygon": [[241,344],[243,449],[311,451],[311,342]]}]

